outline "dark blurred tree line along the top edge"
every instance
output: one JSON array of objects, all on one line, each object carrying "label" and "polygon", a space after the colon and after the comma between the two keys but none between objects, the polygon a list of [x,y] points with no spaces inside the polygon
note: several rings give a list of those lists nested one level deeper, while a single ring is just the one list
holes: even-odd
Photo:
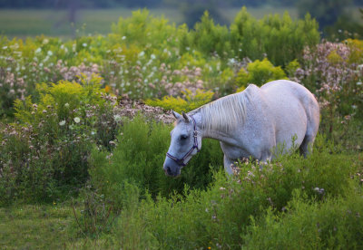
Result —
[{"label": "dark blurred tree line along the top edge", "polygon": [[[320,30],[325,34],[349,30],[348,34],[351,36],[355,34],[363,36],[363,26],[354,22],[351,14],[347,12],[348,6],[362,6],[362,0],[0,0],[0,8],[68,9],[68,21],[71,23],[75,23],[76,13],[82,8],[179,8],[184,15],[184,22],[189,27],[193,27],[200,21],[204,11],[209,12],[214,22],[227,24],[227,20],[222,14],[223,9],[226,7],[240,8],[243,5],[248,7],[267,5],[296,7],[299,17],[304,17],[309,13],[317,19]],[[329,36],[325,34],[323,36]]]}]

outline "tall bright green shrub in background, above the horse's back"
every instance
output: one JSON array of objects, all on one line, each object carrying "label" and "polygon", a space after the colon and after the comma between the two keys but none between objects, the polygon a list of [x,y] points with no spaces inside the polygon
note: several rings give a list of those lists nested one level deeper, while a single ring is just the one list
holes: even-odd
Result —
[{"label": "tall bright green shrub in background, above the horse's back", "polygon": [[307,14],[304,20],[292,21],[289,14],[256,20],[241,8],[231,24],[232,49],[240,59],[262,59],[263,54],[275,64],[285,66],[302,57],[305,46],[319,43],[318,24]]}]

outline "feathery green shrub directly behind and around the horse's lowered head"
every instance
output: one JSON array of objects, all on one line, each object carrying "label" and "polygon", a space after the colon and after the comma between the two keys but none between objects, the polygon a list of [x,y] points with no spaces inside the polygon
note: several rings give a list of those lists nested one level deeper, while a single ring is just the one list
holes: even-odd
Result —
[{"label": "feathery green shrub directly behind and around the horse's lowered head", "polygon": [[166,197],[174,191],[181,192],[184,184],[206,187],[211,182],[210,168],[221,166],[223,159],[218,141],[203,140],[201,152],[182,169],[182,176],[169,178],[162,164],[169,148],[171,129],[154,121],[148,123],[142,117],[125,121],[112,155],[93,150],[93,168],[90,169],[93,185],[115,200],[122,197],[119,190],[123,189],[125,181],[135,183],[141,190],[147,189],[152,197],[159,193]]}]

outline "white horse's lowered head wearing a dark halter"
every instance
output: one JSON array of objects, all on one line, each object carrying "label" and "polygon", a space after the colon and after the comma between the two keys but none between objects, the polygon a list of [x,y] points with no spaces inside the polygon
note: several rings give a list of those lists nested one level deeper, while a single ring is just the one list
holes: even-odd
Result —
[{"label": "white horse's lowered head wearing a dark halter", "polygon": [[171,132],[171,145],[164,161],[165,174],[177,177],[181,169],[201,149],[201,134],[197,130],[197,124],[191,115],[182,112],[182,115],[172,111],[176,119],[176,125]]}]

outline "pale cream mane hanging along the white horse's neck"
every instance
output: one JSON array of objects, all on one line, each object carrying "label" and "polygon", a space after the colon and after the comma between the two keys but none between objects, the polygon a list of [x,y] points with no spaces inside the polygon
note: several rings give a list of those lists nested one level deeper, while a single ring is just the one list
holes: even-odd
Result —
[{"label": "pale cream mane hanging along the white horse's neck", "polygon": [[246,119],[246,99],[249,99],[249,93],[246,90],[222,97],[191,111],[191,114],[201,113],[201,126],[207,132],[231,132]]}]

